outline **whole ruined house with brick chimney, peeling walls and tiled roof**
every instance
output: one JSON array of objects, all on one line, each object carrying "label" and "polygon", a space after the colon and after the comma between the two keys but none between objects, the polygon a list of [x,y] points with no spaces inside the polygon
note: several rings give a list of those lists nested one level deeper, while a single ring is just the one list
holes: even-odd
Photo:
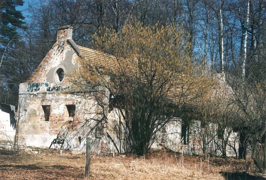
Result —
[{"label": "whole ruined house with brick chimney, peeling walls and tiled roof", "polygon": [[[17,111],[18,143],[26,146],[49,147],[60,134],[67,141],[64,148],[84,151],[86,137],[91,136],[92,151],[98,153],[127,151],[127,142],[123,138],[118,139],[111,128],[119,118],[115,108],[109,110],[107,123],[91,123],[87,120],[101,118],[97,113],[94,99],[62,91],[69,85],[65,81],[66,74],[78,67],[78,57],[90,59],[95,64],[112,65],[104,56],[99,56],[99,51],[77,46],[71,36],[72,27],[59,27],[57,41],[52,49],[28,81],[20,84]],[[108,94],[108,91],[106,93]],[[217,131],[217,126],[212,126],[214,131]],[[158,139],[153,148],[162,148],[160,144],[164,141],[166,148],[174,151],[182,149],[188,154],[200,153],[200,121],[185,125],[181,119],[176,118],[176,121],[169,123],[164,131],[166,135]],[[232,133],[230,141],[235,142],[236,135]],[[218,137],[216,140],[219,141]],[[237,148],[237,143],[234,144]],[[212,149],[215,151],[215,143],[212,143]],[[233,155],[230,147],[228,154]]]}]

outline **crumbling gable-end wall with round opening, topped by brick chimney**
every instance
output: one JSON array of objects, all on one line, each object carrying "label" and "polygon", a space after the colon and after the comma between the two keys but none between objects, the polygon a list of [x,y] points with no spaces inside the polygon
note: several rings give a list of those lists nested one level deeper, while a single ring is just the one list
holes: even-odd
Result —
[{"label": "crumbling gable-end wall with round opening, topped by brick chimney", "polygon": [[[71,36],[70,26],[59,28],[57,41],[52,49],[29,80],[20,84],[18,119],[21,145],[49,147],[63,129],[69,138],[69,144],[77,147],[76,144],[81,144],[78,137],[84,139],[95,126],[93,123],[86,125],[87,120],[95,118],[95,113],[88,113],[96,112],[93,98],[63,92],[68,85],[65,75],[78,66],[78,54],[67,42]],[[59,69],[63,71],[61,80],[57,75]],[[50,108],[48,121],[45,119],[44,105]],[[75,105],[73,117],[69,117],[66,105]]]}]

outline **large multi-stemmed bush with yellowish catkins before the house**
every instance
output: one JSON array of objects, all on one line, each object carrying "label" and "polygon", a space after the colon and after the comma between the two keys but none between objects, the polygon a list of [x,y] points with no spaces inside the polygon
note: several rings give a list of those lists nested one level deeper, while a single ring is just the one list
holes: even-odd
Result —
[{"label": "large multi-stemmed bush with yellowish catkins before the house", "polygon": [[135,23],[124,26],[118,33],[103,30],[103,36],[95,37],[95,47],[113,54],[99,52],[101,58],[113,65],[99,66],[81,60],[83,68],[74,78],[90,84],[76,85],[87,91],[107,89],[109,110],[119,111],[123,133],[132,150],[146,154],[158,138],[157,133],[180,115],[179,108],[197,102],[205,93],[209,79],[203,64],[191,62],[188,39],[182,29]]}]

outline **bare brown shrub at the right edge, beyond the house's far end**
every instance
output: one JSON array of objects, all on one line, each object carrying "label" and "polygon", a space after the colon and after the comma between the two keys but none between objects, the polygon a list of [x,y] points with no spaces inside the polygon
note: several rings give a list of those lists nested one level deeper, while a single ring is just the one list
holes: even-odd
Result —
[{"label": "bare brown shrub at the right edge, beyond the house's far end", "polygon": [[[266,84],[263,81],[243,82],[232,78],[233,103],[238,127],[245,129],[246,141],[252,148],[252,158],[260,172],[266,172]],[[248,138],[248,139],[247,139]],[[244,147],[243,147],[244,148]],[[260,154],[263,154],[261,156]]]}]

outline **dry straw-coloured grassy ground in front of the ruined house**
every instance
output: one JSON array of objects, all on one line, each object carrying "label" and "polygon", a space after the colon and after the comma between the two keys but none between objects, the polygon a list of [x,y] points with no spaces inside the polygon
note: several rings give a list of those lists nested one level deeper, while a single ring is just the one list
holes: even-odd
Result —
[{"label": "dry straw-coloured grassy ground in front of the ruined house", "polygon": [[[244,161],[233,158],[198,156],[151,151],[145,157],[133,154],[92,154],[89,180],[266,180],[242,173]],[[60,150],[27,148],[18,154],[0,151],[0,180],[87,180],[86,154]],[[252,169],[253,168],[253,169]]]}]

